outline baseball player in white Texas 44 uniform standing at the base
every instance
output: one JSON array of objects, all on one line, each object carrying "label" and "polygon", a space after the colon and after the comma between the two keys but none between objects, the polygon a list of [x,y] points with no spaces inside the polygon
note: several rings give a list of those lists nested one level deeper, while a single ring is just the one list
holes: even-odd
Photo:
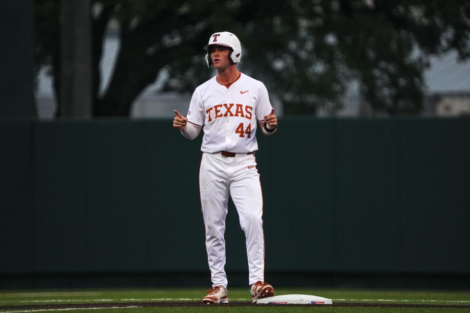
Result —
[{"label": "baseball player in white Texas 44 uniform standing at the base", "polygon": [[273,296],[274,289],[264,282],[263,199],[255,134],[257,124],[263,134],[274,134],[278,119],[264,84],[237,70],[241,45],[234,34],[214,33],[204,49],[207,65],[217,69],[217,75],[194,90],[187,117],[175,110],[173,119],[173,127],[191,140],[204,129],[199,189],[212,287],[202,301],[229,302],[224,233],[231,195],[246,236],[249,284],[256,303]]}]

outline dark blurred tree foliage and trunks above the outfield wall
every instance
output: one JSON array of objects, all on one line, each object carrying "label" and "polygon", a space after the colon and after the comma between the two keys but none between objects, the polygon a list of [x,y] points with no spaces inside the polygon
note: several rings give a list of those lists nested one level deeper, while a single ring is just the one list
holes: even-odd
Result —
[{"label": "dark blurred tree foliage and trunks above the outfield wall", "polygon": [[[58,0],[36,0],[36,62],[59,77]],[[242,43],[240,69],[282,100],[284,113],[335,110],[355,80],[379,112],[420,112],[430,55],[470,57],[470,3],[459,0],[94,0],[94,114],[128,115],[164,69],[165,89],[192,90],[213,75],[202,47],[215,31]],[[103,96],[106,25],[120,50]],[[56,91],[60,88],[54,80]]]}]

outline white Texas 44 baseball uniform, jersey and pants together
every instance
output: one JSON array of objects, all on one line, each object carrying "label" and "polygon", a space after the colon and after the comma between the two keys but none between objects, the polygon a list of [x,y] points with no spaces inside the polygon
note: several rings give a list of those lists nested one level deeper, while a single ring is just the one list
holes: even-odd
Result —
[{"label": "white Texas 44 baseball uniform, jersey and pants together", "polygon": [[193,139],[204,128],[199,188],[212,286],[227,288],[224,233],[229,194],[246,236],[249,284],[264,281],[263,200],[254,152],[257,123],[271,110],[263,83],[244,74],[228,89],[214,76],[192,95],[187,115],[192,133],[182,134]]}]

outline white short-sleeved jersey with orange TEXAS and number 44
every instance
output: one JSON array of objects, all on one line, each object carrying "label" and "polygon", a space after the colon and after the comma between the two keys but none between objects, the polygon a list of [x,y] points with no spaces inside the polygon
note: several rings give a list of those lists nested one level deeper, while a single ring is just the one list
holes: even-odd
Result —
[{"label": "white short-sleeved jersey with orange TEXAS and number 44", "polygon": [[257,123],[271,112],[264,84],[241,73],[228,89],[216,76],[200,85],[191,98],[188,122],[204,127],[201,151],[248,153],[258,150]]}]

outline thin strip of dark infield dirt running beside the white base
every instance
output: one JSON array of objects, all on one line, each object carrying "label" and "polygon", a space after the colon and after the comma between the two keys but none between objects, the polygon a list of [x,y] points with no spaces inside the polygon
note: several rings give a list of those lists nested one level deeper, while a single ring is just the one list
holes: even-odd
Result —
[{"label": "thin strip of dark infield dirt running beside the white base", "polygon": [[[110,308],[110,307],[203,307],[207,306],[201,302],[195,301],[158,301],[158,302],[115,302],[115,303],[79,303],[79,304],[45,304],[45,305],[9,305],[0,306],[0,310],[31,310],[31,309],[75,309],[75,308]],[[226,304],[211,304],[211,306],[221,307],[247,307],[254,306],[250,302],[230,302]],[[310,304],[258,304],[259,307],[311,307]],[[317,305],[323,306],[323,305]],[[357,303],[357,302],[340,302],[334,303],[333,307],[383,307],[383,308],[449,308],[449,309],[468,309],[470,305],[440,305],[440,304],[402,304],[402,303]]]}]

